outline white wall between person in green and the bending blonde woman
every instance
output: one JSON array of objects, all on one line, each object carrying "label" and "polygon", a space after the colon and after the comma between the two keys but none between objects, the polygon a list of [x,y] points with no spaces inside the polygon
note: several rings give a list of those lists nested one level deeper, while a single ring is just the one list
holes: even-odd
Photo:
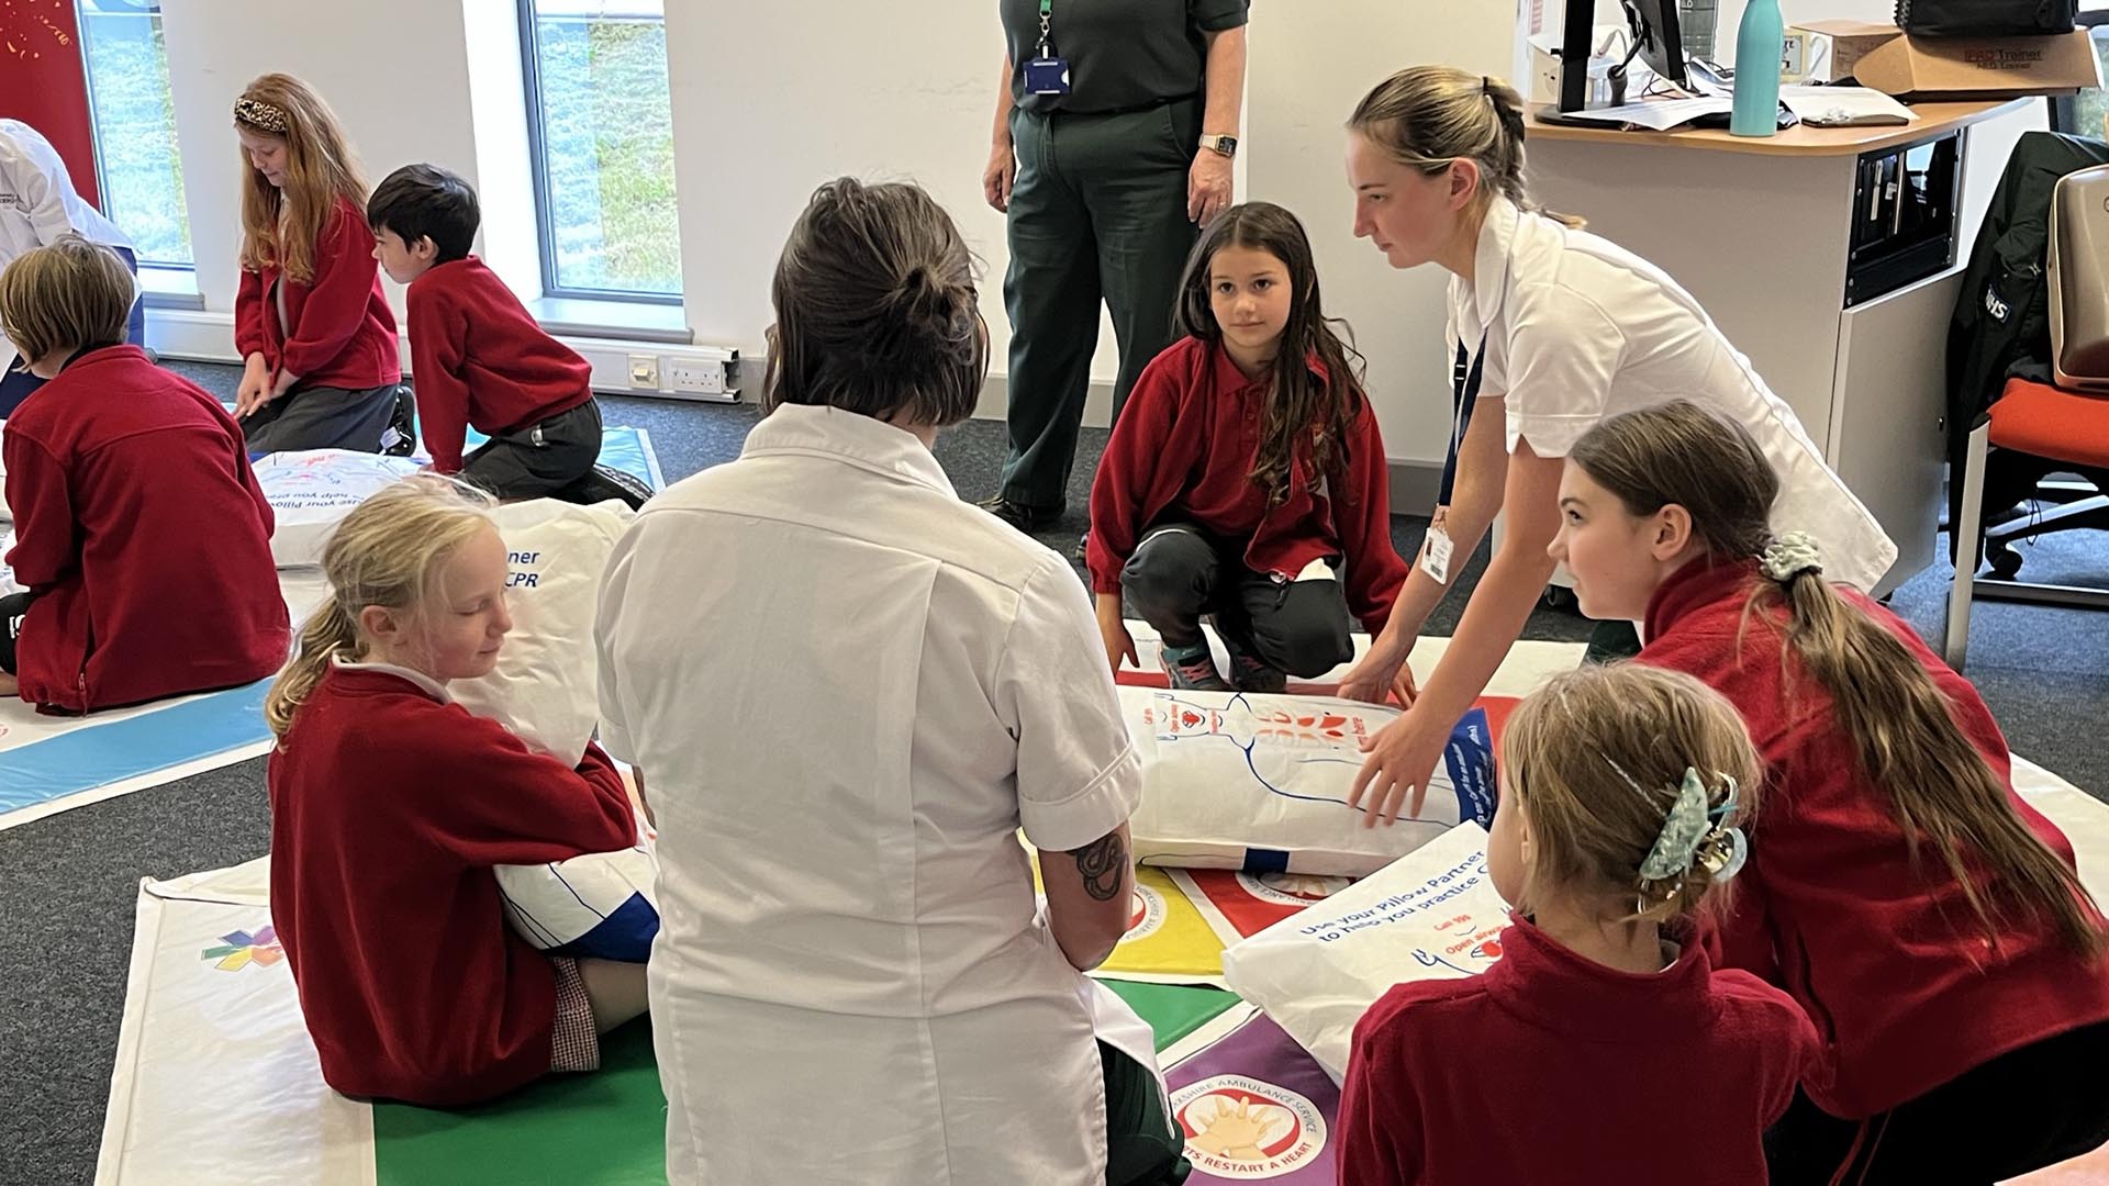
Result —
[{"label": "white wall between person in green and the bending blonde woman", "polygon": [[1508,74],[1514,38],[1514,11],[1483,0],[1443,8],[1396,0],[1253,4],[1251,196],[1303,219],[1327,312],[1348,319],[1369,359],[1369,397],[1394,460],[1440,462],[1449,445],[1449,272],[1432,264],[1398,272],[1354,236],[1341,125],[1371,87],[1405,65],[1449,61]]}]

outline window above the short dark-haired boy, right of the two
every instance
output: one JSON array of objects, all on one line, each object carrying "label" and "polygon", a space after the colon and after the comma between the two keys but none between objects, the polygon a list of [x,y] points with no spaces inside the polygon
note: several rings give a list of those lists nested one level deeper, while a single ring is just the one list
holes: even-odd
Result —
[{"label": "window above the short dark-haired boy, right of the two", "polygon": [[548,295],[681,300],[664,0],[519,0]]}]

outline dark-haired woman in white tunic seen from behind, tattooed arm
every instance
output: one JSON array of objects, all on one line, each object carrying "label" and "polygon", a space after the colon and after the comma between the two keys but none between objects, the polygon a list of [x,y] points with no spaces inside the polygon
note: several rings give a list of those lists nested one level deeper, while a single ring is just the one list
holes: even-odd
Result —
[{"label": "dark-haired woman in white tunic seen from behind, tattooed arm", "polygon": [[1147,1028],[1080,973],[1128,922],[1141,777],[1095,618],[930,454],[987,367],[966,245],[913,186],[831,181],[774,302],[768,418],[645,504],[597,625],[658,825],[669,1178],[1170,1180]]}]

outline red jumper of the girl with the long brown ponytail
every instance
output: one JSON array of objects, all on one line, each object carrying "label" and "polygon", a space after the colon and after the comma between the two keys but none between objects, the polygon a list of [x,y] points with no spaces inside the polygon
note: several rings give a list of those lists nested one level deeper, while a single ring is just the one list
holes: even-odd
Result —
[{"label": "red jumper of the girl with the long brown ponytail", "polygon": [[[1835,1083],[1810,1085],[1810,1099],[1833,1116],[1866,1118],[1997,1055],[2109,1019],[2109,969],[2073,958],[2048,922],[2014,918],[1993,950],[1926,840],[1923,869],[1913,874],[1890,793],[1860,772],[1831,694],[1799,658],[1782,665],[1780,635],[1765,620],[1750,623],[1738,646],[1757,580],[1755,561],[1675,572],[1647,608],[1639,661],[1727,696],[1765,758],[1750,863],[1710,941],[1723,967],[1750,969],[1807,1009],[1835,1061]],[[1976,688],[1902,618],[1850,589],[1839,595],[1911,648],[2008,783],[2014,810],[2071,865],[2073,846],[2012,791],[2006,739]],[[1776,606],[1772,620],[1784,614]]]}]

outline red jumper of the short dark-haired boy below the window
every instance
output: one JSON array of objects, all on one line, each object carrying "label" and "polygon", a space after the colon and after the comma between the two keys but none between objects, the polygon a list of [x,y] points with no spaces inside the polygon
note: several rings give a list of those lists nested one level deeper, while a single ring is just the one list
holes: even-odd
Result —
[{"label": "red jumper of the short dark-haired boy below the window", "polygon": [[498,437],[593,399],[593,363],[544,333],[475,255],[411,281],[409,371],[439,473],[460,473],[468,426]]}]

